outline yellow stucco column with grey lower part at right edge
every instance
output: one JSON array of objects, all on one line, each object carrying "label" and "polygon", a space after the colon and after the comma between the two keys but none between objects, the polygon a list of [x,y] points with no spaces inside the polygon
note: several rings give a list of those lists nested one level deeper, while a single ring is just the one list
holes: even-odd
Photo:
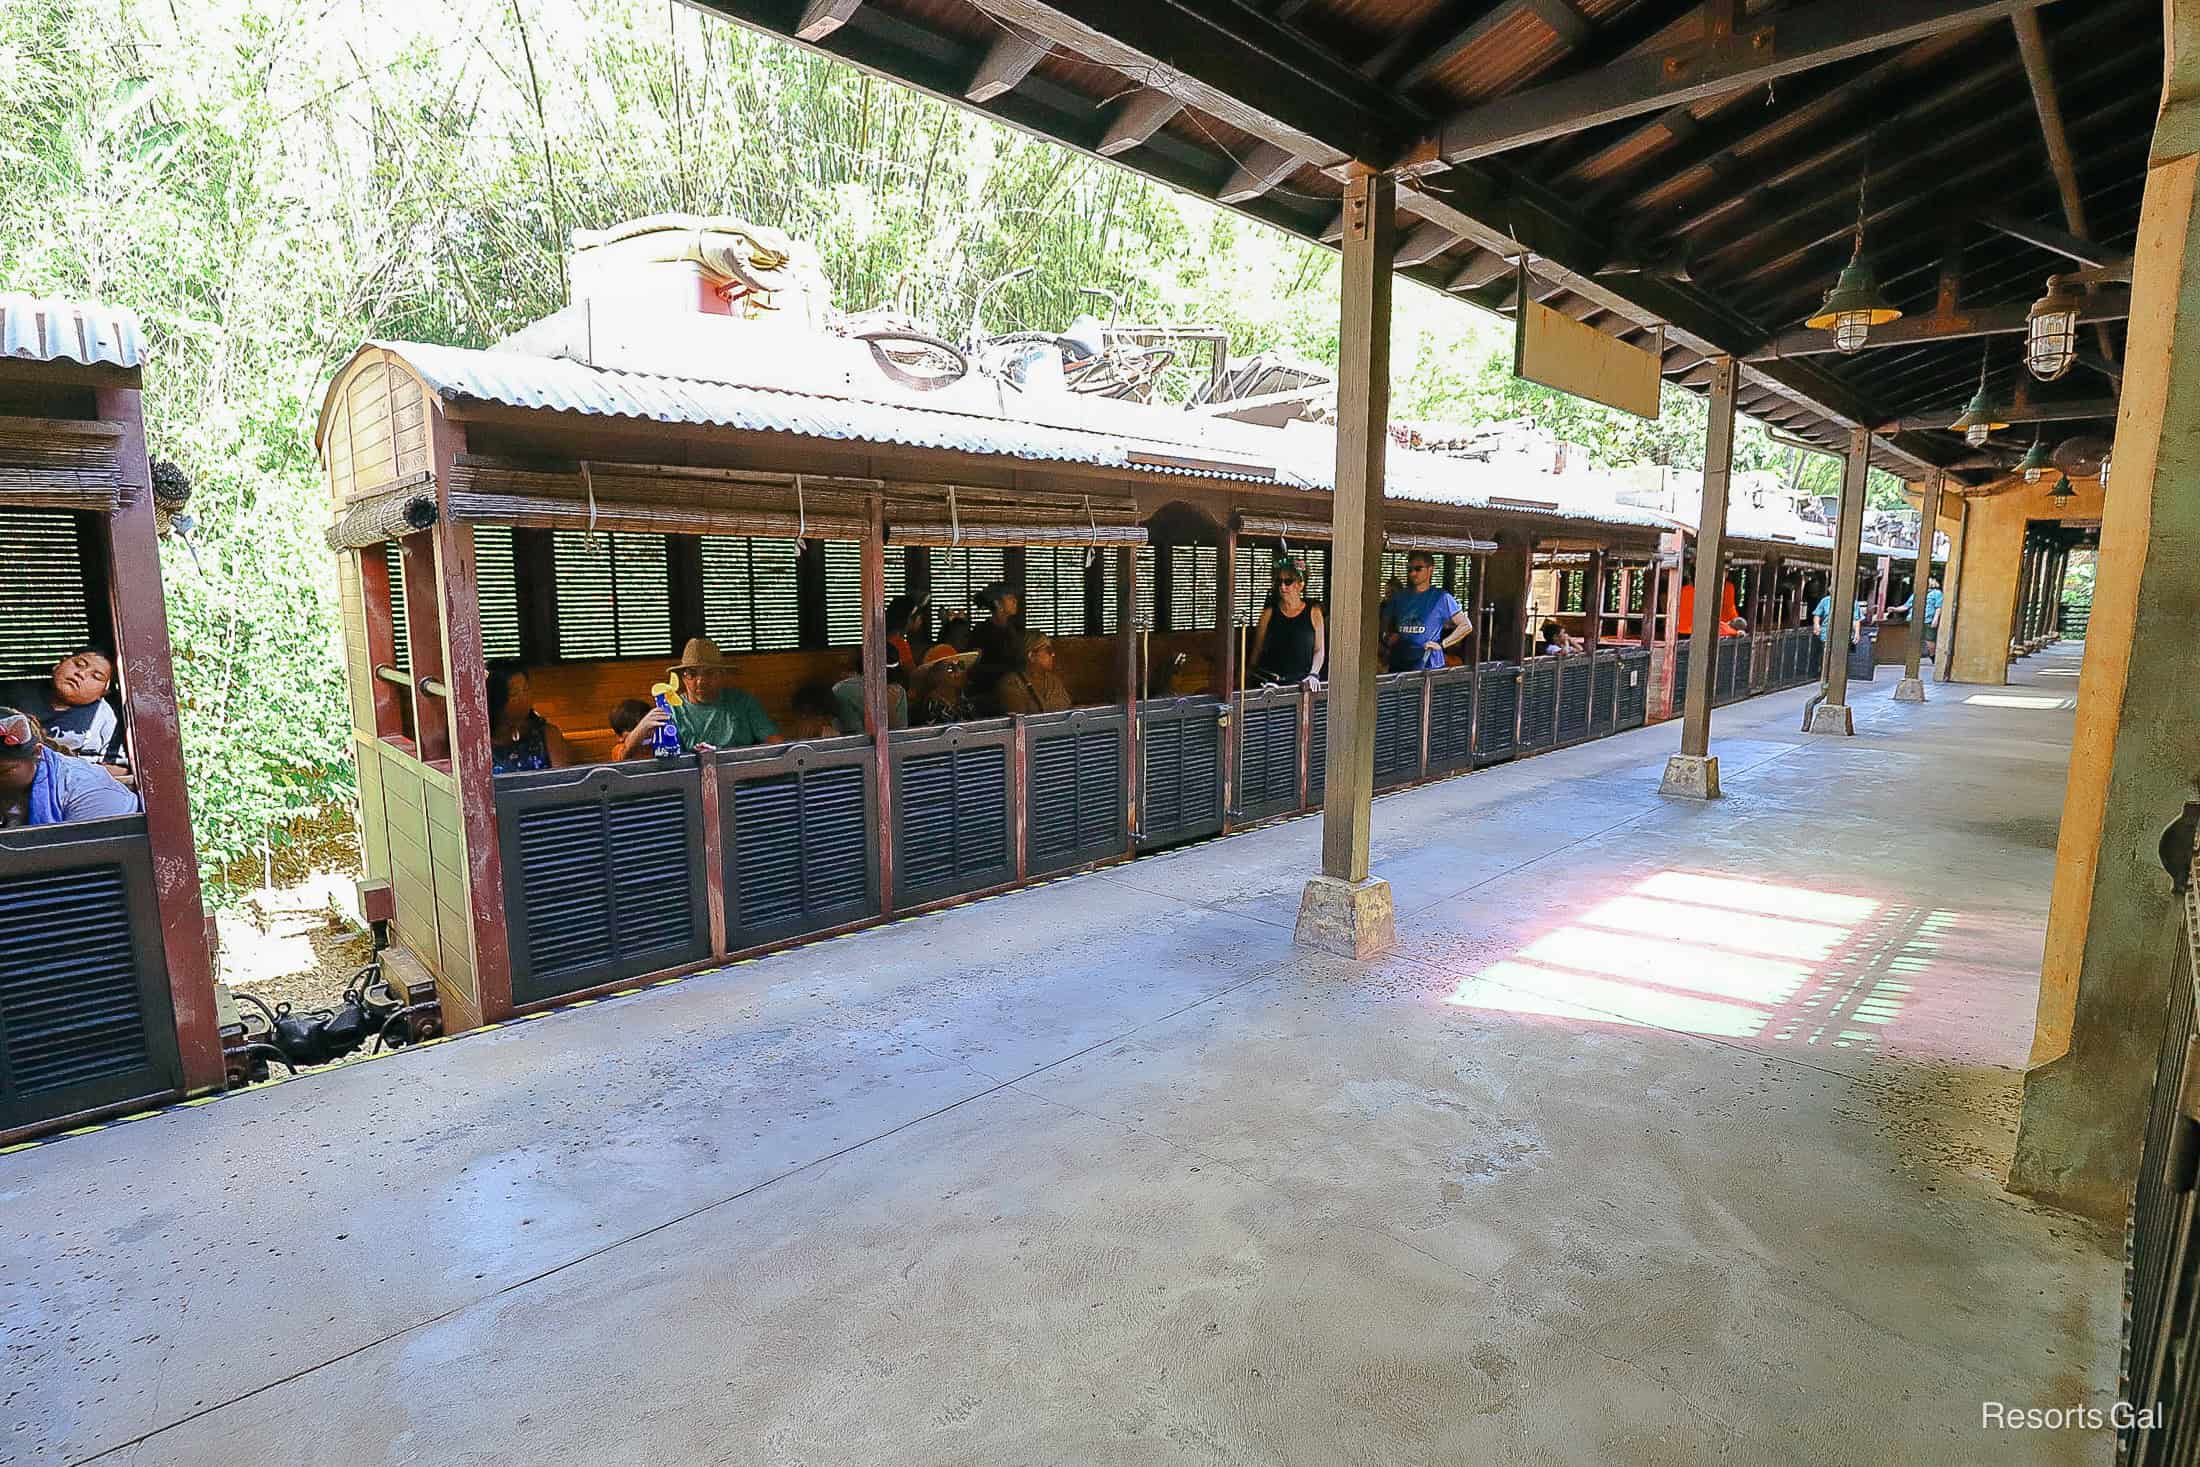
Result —
[{"label": "yellow stucco column with grey lower part at right edge", "polygon": [[2200,2],[2167,4],[2138,216],[2116,475],[2079,680],[2009,1185],[2121,1218],[2152,1095],[2178,902],[2156,856],[2200,772]]}]

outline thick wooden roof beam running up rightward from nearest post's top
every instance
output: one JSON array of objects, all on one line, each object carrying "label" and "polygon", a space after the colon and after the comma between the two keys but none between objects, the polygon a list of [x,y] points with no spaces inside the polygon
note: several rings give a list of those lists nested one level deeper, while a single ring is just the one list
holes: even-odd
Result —
[{"label": "thick wooden roof beam running up rightward from nearest post's top", "polygon": [[[1670,55],[1643,55],[1575,73],[1562,81],[1533,86],[1498,101],[1467,108],[1430,139],[1445,163],[1487,158],[1514,147],[1547,143],[1626,121],[1643,112],[1720,97],[1780,77],[1846,62],[1848,57],[1905,46],[1993,20],[2006,20],[2048,0],[1815,0],[1764,18],[1745,18],[1731,31],[1716,24],[1705,44]],[[1738,15],[1738,0],[1725,7]]]}]

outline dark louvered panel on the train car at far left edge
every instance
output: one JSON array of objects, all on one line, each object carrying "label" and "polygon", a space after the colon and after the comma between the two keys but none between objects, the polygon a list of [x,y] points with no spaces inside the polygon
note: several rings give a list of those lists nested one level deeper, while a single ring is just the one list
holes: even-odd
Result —
[{"label": "dark louvered panel on the train car at far left edge", "polygon": [[0,880],[0,1119],[152,1067],[121,867]]}]

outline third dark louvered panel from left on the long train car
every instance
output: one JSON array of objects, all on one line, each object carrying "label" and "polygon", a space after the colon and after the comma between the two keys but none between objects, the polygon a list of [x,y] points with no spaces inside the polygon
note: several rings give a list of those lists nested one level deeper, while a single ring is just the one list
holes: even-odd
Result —
[{"label": "third dark louvered panel from left on the long train car", "polygon": [[895,812],[898,904],[994,886],[1016,873],[1008,849],[1005,743],[904,754]]}]

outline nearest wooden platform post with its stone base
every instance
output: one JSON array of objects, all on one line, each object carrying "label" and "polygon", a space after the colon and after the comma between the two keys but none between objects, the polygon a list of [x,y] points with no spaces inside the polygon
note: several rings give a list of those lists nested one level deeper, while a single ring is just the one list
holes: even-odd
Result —
[{"label": "nearest wooden platform post with its stone base", "polygon": [[1397,180],[1355,167],[1344,185],[1338,321],[1338,475],[1329,554],[1329,750],[1322,875],[1298,906],[1300,946],[1342,957],[1388,950],[1390,884],[1368,878],[1375,794],[1375,592],[1382,583],[1384,457],[1390,446],[1390,262]]}]

